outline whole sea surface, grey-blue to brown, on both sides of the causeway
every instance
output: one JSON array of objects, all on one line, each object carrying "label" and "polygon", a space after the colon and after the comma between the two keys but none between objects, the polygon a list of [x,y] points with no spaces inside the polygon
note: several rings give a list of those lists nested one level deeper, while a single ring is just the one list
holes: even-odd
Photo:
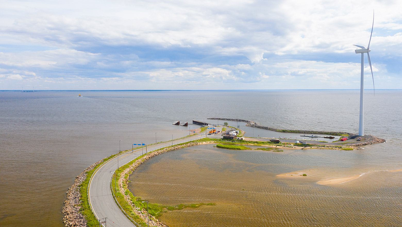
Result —
[{"label": "whole sea surface, grey-blue to brown, on both sides of the causeway", "polygon": [[[166,205],[216,203],[165,213],[170,227],[401,226],[402,172],[383,171],[402,169],[401,103],[402,91],[365,93],[365,134],[384,144],[281,153],[202,145],[147,161],[131,176],[130,189]],[[217,123],[209,117],[357,132],[359,91],[0,92],[0,226],[64,226],[65,192],[86,167],[117,153],[119,140],[127,150],[179,138],[198,126],[173,121]],[[246,136],[273,135],[240,127]],[[295,170],[308,177],[275,176]],[[315,183],[359,173],[367,174],[338,186]]]}]

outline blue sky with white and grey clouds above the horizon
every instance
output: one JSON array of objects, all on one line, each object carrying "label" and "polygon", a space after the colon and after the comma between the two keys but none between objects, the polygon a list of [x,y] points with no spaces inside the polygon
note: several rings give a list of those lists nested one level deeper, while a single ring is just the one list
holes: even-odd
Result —
[{"label": "blue sky with white and grey clouds above the horizon", "polygon": [[[400,0],[2,0],[0,90],[402,89]],[[373,79],[365,54],[365,89]]]}]

